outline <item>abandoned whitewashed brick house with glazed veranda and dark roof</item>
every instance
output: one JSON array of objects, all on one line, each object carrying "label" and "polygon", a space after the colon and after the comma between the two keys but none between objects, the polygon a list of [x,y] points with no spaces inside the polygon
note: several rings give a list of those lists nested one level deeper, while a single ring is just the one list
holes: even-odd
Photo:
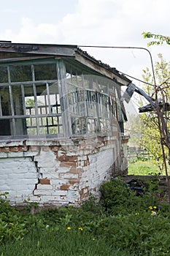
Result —
[{"label": "abandoned whitewashed brick house with glazed veranda and dark roof", "polygon": [[76,45],[0,42],[0,192],[13,205],[79,205],[127,173],[121,86]]}]

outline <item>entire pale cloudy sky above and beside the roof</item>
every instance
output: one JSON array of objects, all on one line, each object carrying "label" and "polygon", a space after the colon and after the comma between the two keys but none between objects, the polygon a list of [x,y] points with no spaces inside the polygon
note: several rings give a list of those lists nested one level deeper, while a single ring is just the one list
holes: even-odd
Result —
[{"label": "entire pale cloudy sky above and beside the roof", "polygon": [[[8,0],[0,10],[0,40],[27,43],[147,48],[142,32],[170,35],[169,0]],[[151,69],[147,50],[85,48],[91,56],[120,72],[142,78]],[[170,60],[170,46],[154,46]]]}]

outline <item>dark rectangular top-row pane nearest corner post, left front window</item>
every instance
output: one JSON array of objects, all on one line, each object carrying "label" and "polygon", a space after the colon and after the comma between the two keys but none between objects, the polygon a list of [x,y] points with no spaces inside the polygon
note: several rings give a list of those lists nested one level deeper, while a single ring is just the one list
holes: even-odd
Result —
[{"label": "dark rectangular top-row pane nearest corner post, left front window", "polygon": [[34,65],[35,80],[56,80],[57,71],[55,64]]}]

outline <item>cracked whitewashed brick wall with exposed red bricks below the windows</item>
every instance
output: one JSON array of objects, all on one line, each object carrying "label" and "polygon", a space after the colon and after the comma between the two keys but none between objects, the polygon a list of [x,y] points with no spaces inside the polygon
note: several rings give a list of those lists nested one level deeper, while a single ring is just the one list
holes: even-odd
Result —
[{"label": "cracked whitewashed brick wall with exposed red bricks below the windows", "polygon": [[0,192],[13,204],[77,206],[122,173],[115,137],[0,143]]}]

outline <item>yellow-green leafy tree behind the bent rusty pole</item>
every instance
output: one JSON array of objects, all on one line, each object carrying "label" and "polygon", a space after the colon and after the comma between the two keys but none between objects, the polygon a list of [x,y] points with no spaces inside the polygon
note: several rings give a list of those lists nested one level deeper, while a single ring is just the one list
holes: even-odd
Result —
[{"label": "yellow-green leafy tree behind the bent rusty pole", "polygon": [[[161,90],[165,92],[166,102],[170,101],[170,89],[169,86],[165,85],[163,82],[170,76],[170,62],[167,62],[163,59],[161,54],[158,55],[159,60],[155,62],[155,78],[157,83],[160,86],[160,90],[157,91],[157,97],[162,98]],[[155,98],[155,86],[152,73],[150,69],[146,68],[143,70],[143,80],[146,82],[144,85],[144,91]],[[167,83],[167,82],[166,82]],[[143,102],[139,102],[140,105],[143,105]],[[163,110],[162,110],[163,111]],[[163,118],[168,124],[169,127],[169,112],[163,111]],[[144,148],[146,151],[150,153],[152,159],[157,162],[160,170],[163,170],[163,152],[161,147],[161,135],[158,126],[158,115],[155,111],[142,113],[140,115],[140,120],[131,123],[133,126],[133,140],[136,138],[139,139],[139,136],[135,138],[134,133],[136,132],[139,135],[141,133],[141,137],[139,140],[139,146]],[[140,129],[140,130],[139,130]],[[165,148],[166,158],[168,157],[168,148]]]}]

